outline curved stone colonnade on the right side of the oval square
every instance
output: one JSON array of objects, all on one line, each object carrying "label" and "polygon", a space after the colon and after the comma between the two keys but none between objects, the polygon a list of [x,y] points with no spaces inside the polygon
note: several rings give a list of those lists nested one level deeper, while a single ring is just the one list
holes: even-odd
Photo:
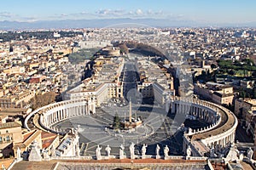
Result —
[{"label": "curved stone colonnade on the right side of the oval square", "polygon": [[200,99],[189,101],[175,99],[167,103],[166,110],[171,111],[172,114],[194,116],[211,124],[193,132],[184,133],[183,152],[190,146],[193,156],[204,156],[212,148],[215,151],[222,151],[235,142],[237,119],[223,106]]}]

